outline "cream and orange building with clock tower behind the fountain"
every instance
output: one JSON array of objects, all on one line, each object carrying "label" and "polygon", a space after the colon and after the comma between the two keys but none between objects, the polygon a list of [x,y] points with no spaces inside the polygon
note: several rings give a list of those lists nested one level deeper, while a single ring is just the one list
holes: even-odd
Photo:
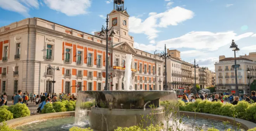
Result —
[{"label": "cream and orange building with clock tower behind the fountain", "polygon": [[26,18],[0,27],[1,94],[15,94],[18,90],[35,94],[103,90],[106,68],[109,90],[120,90],[126,54],[133,56],[135,90],[163,90],[163,59],[133,47],[128,20],[124,9],[109,13],[109,25],[116,34],[108,38],[108,52],[106,39],[98,37],[99,32],[91,35],[42,18]]}]

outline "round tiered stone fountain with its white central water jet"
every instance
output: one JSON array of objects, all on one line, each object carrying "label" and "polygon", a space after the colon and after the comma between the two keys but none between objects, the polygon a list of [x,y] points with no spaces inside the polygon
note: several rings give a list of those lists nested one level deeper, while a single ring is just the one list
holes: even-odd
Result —
[{"label": "round tiered stone fountain with its white central water jet", "polygon": [[[88,123],[92,129],[113,131],[138,125],[141,115],[164,121],[160,101],[177,102],[175,91],[134,91],[131,78],[132,55],[126,55],[123,91],[80,91],[76,101],[75,124]],[[149,107],[154,104],[155,108]],[[178,107],[177,107],[178,108]],[[178,109],[177,109],[178,110]],[[152,113],[152,112],[155,113]],[[156,113],[157,112],[157,113]],[[149,120],[144,117],[150,124]],[[145,126],[148,126],[145,124]]]}]

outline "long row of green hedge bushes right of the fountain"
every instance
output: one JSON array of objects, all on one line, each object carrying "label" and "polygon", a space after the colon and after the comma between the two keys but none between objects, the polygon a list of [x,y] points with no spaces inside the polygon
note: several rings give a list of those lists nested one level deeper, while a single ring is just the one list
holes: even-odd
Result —
[{"label": "long row of green hedge bushes right of the fountain", "polygon": [[233,105],[229,103],[223,104],[220,101],[211,102],[197,99],[195,102],[187,102],[185,104],[183,101],[178,100],[178,105],[180,111],[195,111],[229,117],[233,117],[233,114],[235,114],[236,118],[256,123],[256,103],[250,104],[246,101],[239,101],[237,105]]}]

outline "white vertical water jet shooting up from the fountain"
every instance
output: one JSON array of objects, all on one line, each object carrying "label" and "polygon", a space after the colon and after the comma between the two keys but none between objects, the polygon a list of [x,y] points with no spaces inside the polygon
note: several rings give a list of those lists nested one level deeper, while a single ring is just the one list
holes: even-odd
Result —
[{"label": "white vertical water jet shooting up from the fountain", "polygon": [[124,86],[126,91],[132,91],[133,86],[132,86],[132,78],[131,78],[131,60],[132,60],[132,55],[131,54],[126,54],[125,58],[125,78],[124,78]]}]

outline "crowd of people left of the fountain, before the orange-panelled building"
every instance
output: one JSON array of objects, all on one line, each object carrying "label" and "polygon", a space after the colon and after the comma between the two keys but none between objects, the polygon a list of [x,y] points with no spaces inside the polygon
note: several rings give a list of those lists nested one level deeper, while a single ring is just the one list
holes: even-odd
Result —
[{"label": "crowd of people left of the fountain, before the orange-panelled building", "polygon": [[[35,95],[29,92],[24,92],[23,96],[22,96],[22,91],[19,90],[17,94],[14,94],[12,96],[12,104],[17,104],[17,103],[21,103],[21,104],[26,104],[28,106],[29,101],[30,104],[36,104],[36,106],[38,106],[38,112],[42,111],[43,107],[45,106],[45,104],[51,102],[57,102],[57,101],[62,101],[62,99],[64,99],[64,93],[60,93],[59,94],[59,99],[58,96],[56,95],[56,93],[47,93],[47,92],[41,92],[41,94],[39,95]],[[67,96],[70,96],[70,94],[67,94]],[[76,100],[76,97],[74,96],[74,94],[72,94],[69,97],[69,100],[74,101]],[[1,96],[0,99],[0,106],[3,105],[7,105],[7,94],[4,93]]]}]

